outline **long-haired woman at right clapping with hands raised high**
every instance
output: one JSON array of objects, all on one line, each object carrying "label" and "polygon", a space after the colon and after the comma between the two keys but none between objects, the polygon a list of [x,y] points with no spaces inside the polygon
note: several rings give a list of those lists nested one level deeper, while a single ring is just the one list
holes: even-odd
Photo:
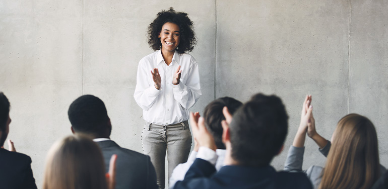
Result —
[{"label": "long-haired woman at right clapping with hands raised high", "polygon": [[325,168],[311,166],[304,171],[314,188],[370,188],[385,171],[379,165],[377,134],[372,122],[357,114],[343,117],[333,133],[331,146],[315,130],[311,96],[304,100],[298,132],[285,162],[286,171],[302,171],[306,134],[328,157]]}]

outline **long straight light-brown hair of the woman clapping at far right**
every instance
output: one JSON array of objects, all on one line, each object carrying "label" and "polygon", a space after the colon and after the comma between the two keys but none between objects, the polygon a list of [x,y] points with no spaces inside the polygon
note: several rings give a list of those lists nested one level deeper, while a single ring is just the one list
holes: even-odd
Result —
[{"label": "long straight light-brown hair of the woman clapping at far right", "polygon": [[358,114],[343,117],[333,134],[319,188],[370,188],[380,176],[377,134]]}]

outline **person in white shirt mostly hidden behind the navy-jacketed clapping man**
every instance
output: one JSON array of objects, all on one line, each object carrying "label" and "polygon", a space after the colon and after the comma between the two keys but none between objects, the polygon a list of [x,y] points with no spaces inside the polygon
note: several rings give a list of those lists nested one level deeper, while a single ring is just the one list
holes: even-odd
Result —
[{"label": "person in white shirt mostly hidden behind the navy-jacketed clapping man", "polygon": [[[219,170],[224,165],[224,157],[226,152],[225,145],[222,142],[223,129],[221,121],[225,120],[222,110],[224,107],[227,107],[229,112],[231,114],[234,114],[234,112],[240,106],[242,106],[242,103],[240,101],[237,101],[230,97],[223,97],[212,101],[210,104],[208,104],[208,106],[205,107],[205,126],[209,130],[210,134],[214,137],[214,141],[217,146],[216,154],[218,156],[218,159],[215,165],[217,170]],[[191,164],[196,159],[199,146],[196,141],[194,141],[194,143],[194,149],[190,153],[187,162],[178,164],[178,166],[176,166],[175,169],[172,171],[168,184],[169,188],[173,188],[178,180],[183,180],[188,168],[190,168]]]}]

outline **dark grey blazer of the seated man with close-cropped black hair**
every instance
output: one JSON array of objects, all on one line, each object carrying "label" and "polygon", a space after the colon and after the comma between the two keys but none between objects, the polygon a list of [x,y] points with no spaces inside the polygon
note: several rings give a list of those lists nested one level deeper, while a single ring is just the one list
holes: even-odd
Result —
[{"label": "dark grey blazer of the seated man with close-cropped black hair", "polygon": [[156,172],[150,156],[121,148],[111,140],[97,142],[105,161],[105,170],[109,170],[110,157],[117,154],[116,189],[123,188],[158,188]]}]

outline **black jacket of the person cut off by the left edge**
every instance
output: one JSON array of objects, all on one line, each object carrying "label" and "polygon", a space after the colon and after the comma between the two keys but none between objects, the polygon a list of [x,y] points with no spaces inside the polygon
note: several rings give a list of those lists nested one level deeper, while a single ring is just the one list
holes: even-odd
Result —
[{"label": "black jacket of the person cut off by the left edge", "polygon": [[36,188],[28,155],[0,148],[0,188]]}]

